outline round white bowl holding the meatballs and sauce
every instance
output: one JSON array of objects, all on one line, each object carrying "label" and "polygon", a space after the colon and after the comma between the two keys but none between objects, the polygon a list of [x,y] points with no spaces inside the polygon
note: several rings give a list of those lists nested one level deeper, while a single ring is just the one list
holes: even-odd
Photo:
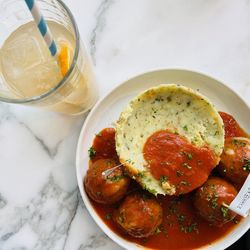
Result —
[{"label": "round white bowl holding the meatballs and sauce", "polygon": [[[147,88],[167,83],[182,84],[193,89],[198,89],[216,105],[218,110],[233,115],[242,128],[247,132],[250,131],[249,106],[223,83],[193,71],[163,69],[141,74],[120,84],[99,100],[86,119],[79,137],[76,154],[77,181],[82,199],[97,225],[113,241],[125,249],[145,249],[145,247],[129,242],[114,233],[102,221],[92,207],[83,188],[83,178],[88,168],[88,148],[91,146],[96,133],[105,127],[112,126],[112,123],[118,119],[120,112],[131,98]],[[241,223],[225,237],[202,249],[225,249],[237,241],[249,228],[250,216],[242,220]]]}]

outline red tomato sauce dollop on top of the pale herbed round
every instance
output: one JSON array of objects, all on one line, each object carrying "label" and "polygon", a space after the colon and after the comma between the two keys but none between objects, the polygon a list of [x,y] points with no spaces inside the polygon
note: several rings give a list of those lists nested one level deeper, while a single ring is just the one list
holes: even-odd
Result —
[{"label": "red tomato sauce dollop on top of the pale herbed round", "polygon": [[198,148],[184,137],[158,131],[144,145],[144,158],[151,174],[176,187],[176,195],[201,186],[208,178],[216,161],[208,147]]}]

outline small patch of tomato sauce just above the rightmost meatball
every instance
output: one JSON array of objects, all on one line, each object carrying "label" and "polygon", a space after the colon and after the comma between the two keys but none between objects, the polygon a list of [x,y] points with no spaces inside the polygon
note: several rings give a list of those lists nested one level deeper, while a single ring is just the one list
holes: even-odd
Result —
[{"label": "small patch of tomato sauce just above the rightmost meatball", "polygon": [[248,137],[248,134],[240,127],[237,121],[225,112],[219,112],[225,129],[225,138],[229,137]]}]

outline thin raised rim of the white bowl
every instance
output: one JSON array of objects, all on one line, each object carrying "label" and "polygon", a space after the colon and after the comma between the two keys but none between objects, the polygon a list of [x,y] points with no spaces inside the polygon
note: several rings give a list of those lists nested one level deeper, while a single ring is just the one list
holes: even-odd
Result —
[{"label": "thin raised rim of the white bowl", "polygon": [[[94,107],[92,108],[92,110],[90,111],[90,113],[88,114],[86,120],[84,121],[84,124],[81,128],[81,132],[79,135],[79,139],[78,139],[78,143],[77,143],[77,150],[76,150],[76,175],[77,175],[77,183],[78,183],[78,188],[80,190],[80,194],[82,197],[82,200],[90,214],[90,216],[93,218],[94,222],[97,224],[97,226],[115,243],[117,243],[120,247],[124,248],[124,249],[134,249],[134,250],[139,250],[139,249],[150,249],[150,248],[146,248],[144,246],[141,246],[135,242],[129,242],[126,239],[123,239],[122,237],[120,237],[119,235],[117,235],[115,232],[113,232],[104,222],[103,220],[99,217],[99,215],[96,213],[96,211],[93,209],[91,202],[84,190],[84,188],[80,188],[80,186],[83,185],[83,179],[81,174],[79,173],[79,166],[80,166],[80,162],[79,162],[79,155],[81,154],[80,148],[81,148],[81,143],[82,143],[82,137],[83,134],[86,130],[86,127],[88,126],[89,120],[92,118],[93,114],[95,113],[95,111],[98,109],[98,107],[101,105],[101,103],[103,101],[105,101],[105,99],[111,95],[113,92],[115,92],[117,89],[121,88],[122,86],[126,85],[127,82],[132,81],[138,77],[142,77],[144,75],[149,75],[149,74],[156,74],[156,73],[161,73],[161,72],[166,72],[166,71],[176,71],[176,72],[184,72],[184,73],[189,73],[189,74],[195,74],[195,75],[199,75],[201,77],[204,78],[208,78],[211,81],[216,82],[217,84],[221,85],[223,88],[227,89],[228,91],[233,92],[233,94],[240,99],[243,104],[246,105],[246,107],[249,109],[250,111],[250,104],[248,104],[243,98],[240,97],[240,95],[231,87],[227,86],[224,82],[221,82],[220,80],[211,77],[205,73],[201,73],[195,70],[191,70],[191,69],[184,69],[184,68],[156,68],[156,69],[152,69],[149,71],[142,71],[139,72],[137,74],[133,74],[131,77],[127,77],[124,81],[122,81],[120,84],[118,84],[117,86],[115,86],[114,88],[112,88],[110,91],[108,91],[103,97],[101,97],[96,104],[94,105]],[[241,223],[240,223],[241,224]],[[224,249],[225,247],[229,247],[230,245],[232,245],[233,243],[235,243],[239,238],[241,238],[250,228],[250,221],[249,223],[247,223],[240,231],[240,233],[238,233],[238,235],[236,237],[231,237],[229,240],[224,241],[224,237],[214,241],[213,243],[215,243],[216,245],[213,246],[203,246],[202,249]],[[231,232],[233,232],[234,230],[232,230]],[[229,233],[231,233],[229,232]],[[211,248],[213,247],[213,248]]]}]

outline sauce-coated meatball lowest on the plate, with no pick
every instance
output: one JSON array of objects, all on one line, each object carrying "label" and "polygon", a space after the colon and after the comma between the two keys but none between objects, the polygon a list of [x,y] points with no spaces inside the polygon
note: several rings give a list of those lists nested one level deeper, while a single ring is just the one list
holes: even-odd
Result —
[{"label": "sauce-coated meatball lowest on the plate, with no pick", "polygon": [[115,210],[113,220],[131,236],[145,238],[155,233],[162,216],[162,207],[154,197],[135,193]]}]

